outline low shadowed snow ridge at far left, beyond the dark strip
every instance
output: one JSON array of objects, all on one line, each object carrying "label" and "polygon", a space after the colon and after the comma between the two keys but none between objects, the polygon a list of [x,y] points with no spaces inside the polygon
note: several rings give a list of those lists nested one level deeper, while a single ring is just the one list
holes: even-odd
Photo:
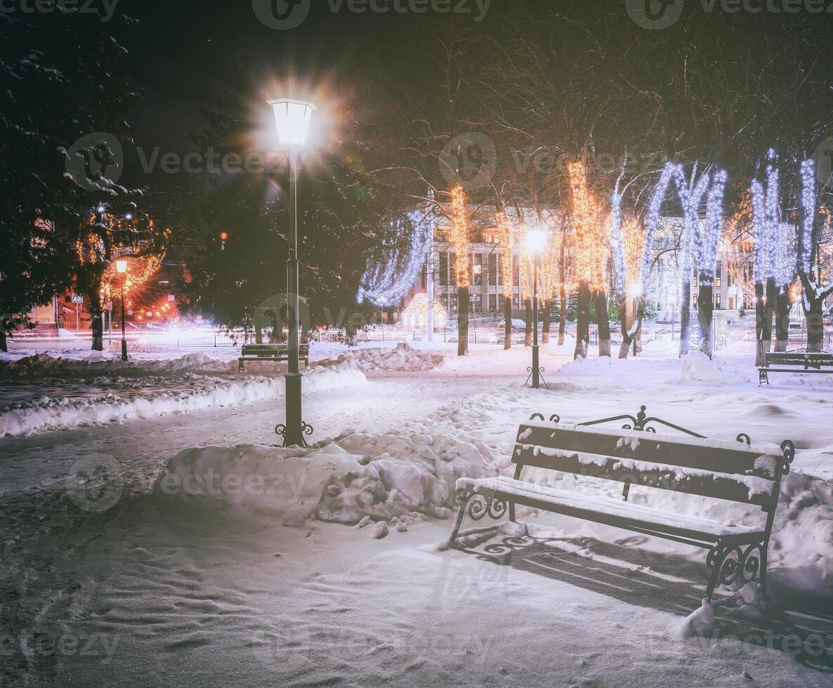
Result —
[{"label": "low shadowed snow ridge at far left, beyond the dark strip", "polygon": [[[119,345],[121,346],[121,345]],[[151,346],[151,345],[147,345]],[[171,374],[186,371],[227,372],[227,361],[217,361],[203,353],[187,353],[177,358],[152,361],[122,362],[111,354],[99,353],[83,359],[50,356],[39,353],[17,361],[0,361],[0,376],[7,377],[74,377],[96,376],[107,373],[119,375]]]}]

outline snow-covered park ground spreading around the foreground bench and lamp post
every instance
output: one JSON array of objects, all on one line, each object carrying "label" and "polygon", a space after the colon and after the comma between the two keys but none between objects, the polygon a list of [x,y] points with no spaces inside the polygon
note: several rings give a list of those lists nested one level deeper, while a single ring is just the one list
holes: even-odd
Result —
[{"label": "snow-covered park ground spreading around the foreground bench and lamp post", "polygon": [[[313,345],[305,450],[277,446],[282,368],[239,373],[237,348],[147,347],[125,366],[113,351],[13,344],[0,358],[0,685],[829,686],[833,381],[759,388],[748,345],[710,362],[679,361],[675,344],[627,361],[544,347],[548,390],[523,386],[524,347],[461,359],[426,342]],[[531,413],[641,404],[721,439],[796,442],[767,606],[737,598],[689,618],[704,551],[528,510],[536,540],[509,559],[484,553],[506,528],[479,554],[441,551],[454,481],[511,472]],[[671,493],[651,503],[754,517]]]}]

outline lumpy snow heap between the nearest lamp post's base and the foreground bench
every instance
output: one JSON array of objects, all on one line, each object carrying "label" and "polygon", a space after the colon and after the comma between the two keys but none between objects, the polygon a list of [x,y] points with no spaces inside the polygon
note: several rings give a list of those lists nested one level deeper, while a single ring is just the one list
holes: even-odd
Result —
[{"label": "lumpy snow heap between the nearest lamp post's base and the foreground bench", "polygon": [[312,518],[364,525],[368,519],[446,518],[457,478],[493,475],[491,452],[470,441],[357,432],[307,449],[187,449],[169,461],[153,490],[212,497],[287,525]]}]

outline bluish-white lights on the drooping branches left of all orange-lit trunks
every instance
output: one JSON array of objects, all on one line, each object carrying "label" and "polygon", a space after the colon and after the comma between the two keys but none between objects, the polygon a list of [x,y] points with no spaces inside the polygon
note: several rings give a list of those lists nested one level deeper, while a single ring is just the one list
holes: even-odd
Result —
[{"label": "bluish-white lights on the drooping branches left of all orange-lit trunks", "polygon": [[395,223],[395,246],[384,262],[368,267],[356,300],[377,307],[395,306],[410,292],[427,262],[431,222],[421,212],[408,213]]}]

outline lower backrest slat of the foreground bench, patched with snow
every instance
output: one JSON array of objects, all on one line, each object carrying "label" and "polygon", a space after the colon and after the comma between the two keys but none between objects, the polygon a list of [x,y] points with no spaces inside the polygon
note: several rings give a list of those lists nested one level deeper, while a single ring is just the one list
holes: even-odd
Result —
[{"label": "lower backrest slat of the foreground bench, patched with snow", "polygon": [[604,480],[629,482],[690,495],[715,497],[768,507],[776,482],[758,476],[702,471],[587,452],[518,445],[513,461],[551,471],[562,471]]}]

